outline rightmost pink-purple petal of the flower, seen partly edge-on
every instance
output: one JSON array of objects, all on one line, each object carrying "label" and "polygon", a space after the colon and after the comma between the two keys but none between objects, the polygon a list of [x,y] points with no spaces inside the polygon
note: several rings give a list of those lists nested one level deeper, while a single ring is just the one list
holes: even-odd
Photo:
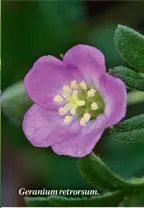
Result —
[{"label": "rightmost pink-purple petal of the flower, seen partly edge-on", "polygon": [[122,80],[105,74],[99,79],[98,88],[106,103],[105,115],[109,127],[118,123],[126,114],[126,86]]}]

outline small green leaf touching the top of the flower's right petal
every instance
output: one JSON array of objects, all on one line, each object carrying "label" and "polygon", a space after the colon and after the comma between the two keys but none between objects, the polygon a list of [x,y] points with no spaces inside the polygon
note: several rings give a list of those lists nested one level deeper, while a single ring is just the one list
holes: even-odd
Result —
[{"label": "small green leaf touching the top of the flower's right petal", "polygon": [[144,91],[144,76],[123,66],[110,69],[110,74],[122,79],[128,88]]}]

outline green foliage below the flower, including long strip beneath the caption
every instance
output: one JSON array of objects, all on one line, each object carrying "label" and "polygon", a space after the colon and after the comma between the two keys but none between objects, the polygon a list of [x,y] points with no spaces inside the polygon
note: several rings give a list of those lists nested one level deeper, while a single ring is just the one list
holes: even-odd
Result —
[{"label": "green foliage below the flower, including long strip beneath the caption", "polygon": [[[87,167],[87,168],[86,168]],[[113,186],[117,187],[117,191],[102,193],[97,196],[90,197],[65,197],[65,196],[49,196],[49,197],[26,197],[25,202],[27,206],[118,206],[123,203],[125,196],[130,197],[134,191],[140,191],[141,187],[144,187],[144,178],[141,179],[131,179],[130,181],[125,181],[124,179],[113,173],[95,154],[88,155],[82,159],[78,160],[78,168],[81,175],[84,178],[95,185],[97,188],[101,186],[102,188]],[[89,169],[89,171],[88,171]],[[94,177],[96,175],[96,177]],[[109,182],[102,183],[99,181]],[[111,187],[110,187],[111,184]],[[139,187],[139,189],[138,189]],[[137,189],[135,189],[137,188]]]}]

